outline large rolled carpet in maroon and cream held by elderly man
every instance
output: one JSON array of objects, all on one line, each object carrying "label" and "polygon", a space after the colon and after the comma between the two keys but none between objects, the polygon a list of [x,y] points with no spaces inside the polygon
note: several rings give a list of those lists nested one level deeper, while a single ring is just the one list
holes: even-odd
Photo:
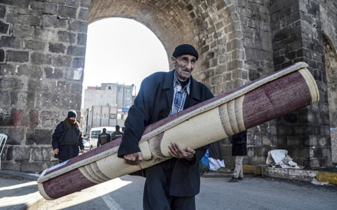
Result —
[{"label": "large rolled carpet in maroon and cream held by elderly man", "polygon": [[171,142],[199,148],[318,102],[317,85],[307,66],[298,62],[148,125],[139,142],[143,155],[139,165],[117,158],[119,138],[46,169],[38,179],[39,192],[54,200],[168,160]]}]

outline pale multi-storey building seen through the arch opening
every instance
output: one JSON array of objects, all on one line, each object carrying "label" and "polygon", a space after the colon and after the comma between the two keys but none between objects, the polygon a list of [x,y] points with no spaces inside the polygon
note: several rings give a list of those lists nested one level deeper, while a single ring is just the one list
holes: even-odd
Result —
[{"label": "pale multi-storey building seen through the arch opening", "polygon": [[134,85],[102,83],[101,87],[84,90],[82,132],[88,134],[93,127],[124,126],[128,109],[133,104]]}]

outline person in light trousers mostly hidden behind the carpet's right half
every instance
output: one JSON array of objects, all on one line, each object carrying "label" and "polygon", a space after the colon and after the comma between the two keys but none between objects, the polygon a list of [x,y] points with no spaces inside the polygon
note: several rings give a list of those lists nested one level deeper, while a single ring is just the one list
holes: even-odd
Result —
[{"label": "person in light trousers mostly hidden behind the carpet's right half", "polygon": [[238,180],[244,180],[242,160],[244,160],[244,155],[247,155],[247,131],[239,132],[230,137],[230,143],[232,143],[232,156],[235,156],[235,169],[229,182],[237,182]]}]

